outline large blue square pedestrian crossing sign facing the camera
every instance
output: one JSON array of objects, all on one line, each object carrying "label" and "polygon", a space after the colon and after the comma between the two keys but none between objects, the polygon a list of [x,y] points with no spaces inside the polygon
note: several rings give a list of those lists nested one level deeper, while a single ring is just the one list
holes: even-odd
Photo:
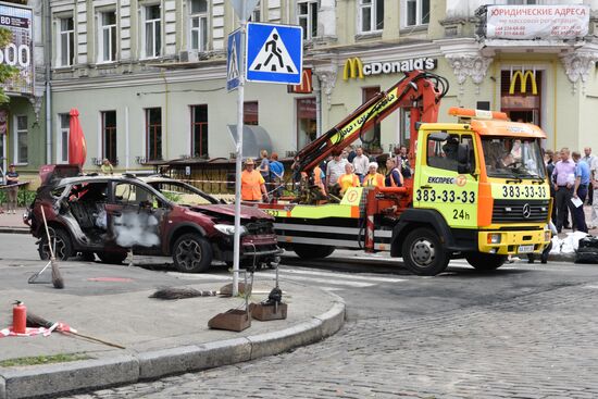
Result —
[{"label": "large blue square pedestrian crossing sign facing the camera", "polygon": [[247,80],[300,85],[303,71],[301,26],[247,24]]}]

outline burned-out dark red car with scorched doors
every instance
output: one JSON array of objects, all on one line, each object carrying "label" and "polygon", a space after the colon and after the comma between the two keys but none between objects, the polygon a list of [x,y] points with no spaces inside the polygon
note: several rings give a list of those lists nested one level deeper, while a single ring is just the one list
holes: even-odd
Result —
[{"label": "burned-out dark red car with scorched doors", "polygon": [[[234,204],[163,176],[60,176],[42,178],[25,223],[48,259],[43,208],[55,257],[94,253],[107,263],[136,254],[172,255],[180,272],[204,272],[212,260],[233,263]],[[282,252],[273,217],[241,207],[241,264],[270,265]]]}]

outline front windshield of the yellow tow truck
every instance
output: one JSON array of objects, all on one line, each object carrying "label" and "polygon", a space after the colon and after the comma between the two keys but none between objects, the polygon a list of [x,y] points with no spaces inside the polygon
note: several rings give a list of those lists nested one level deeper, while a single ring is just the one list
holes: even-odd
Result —
[{"label": "front windshield of the yellow tow truck", "polygon": [[544,179],[546,176],[537,139],[484,137],[482,148],[489,177]]}]

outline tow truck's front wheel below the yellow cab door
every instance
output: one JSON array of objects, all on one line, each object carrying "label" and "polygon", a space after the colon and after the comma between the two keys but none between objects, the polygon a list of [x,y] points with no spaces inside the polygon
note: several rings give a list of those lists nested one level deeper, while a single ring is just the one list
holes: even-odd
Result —
[{"label": "tow truck's front wheel below the yellow cab door", "polygon": [[450,260],[436,233],[425,227],[407,235],[402,259],[407,269],[421,276],[435,276],[444,272]]}]

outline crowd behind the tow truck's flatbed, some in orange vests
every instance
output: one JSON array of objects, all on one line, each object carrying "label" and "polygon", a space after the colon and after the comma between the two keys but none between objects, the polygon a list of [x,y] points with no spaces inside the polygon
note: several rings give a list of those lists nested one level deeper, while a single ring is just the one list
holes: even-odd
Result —
[{"label": "crowd behind the tow truck's flatbed, some in orange vests", "polygon": [[[335,151],[327,160],[313,169],[313,185],[321,192],[341,197],[349,187],[401,187],[404,178],[411,177],[406,146],[397,146],[386,161],[386,174],[381,174],[374,157],[369,157],[363,147],[349,146]],[[285,166],[278,161],[278,154],[260,152],[260,164],[253,159],[245,161],[241,175],[241,199],[244,201],[269,201],[271,197],[283,196],[286,180],[297,187],[301,178],[309,178],[299,171],[299,159],[291,165],[290,175],[285,176]]]}]

